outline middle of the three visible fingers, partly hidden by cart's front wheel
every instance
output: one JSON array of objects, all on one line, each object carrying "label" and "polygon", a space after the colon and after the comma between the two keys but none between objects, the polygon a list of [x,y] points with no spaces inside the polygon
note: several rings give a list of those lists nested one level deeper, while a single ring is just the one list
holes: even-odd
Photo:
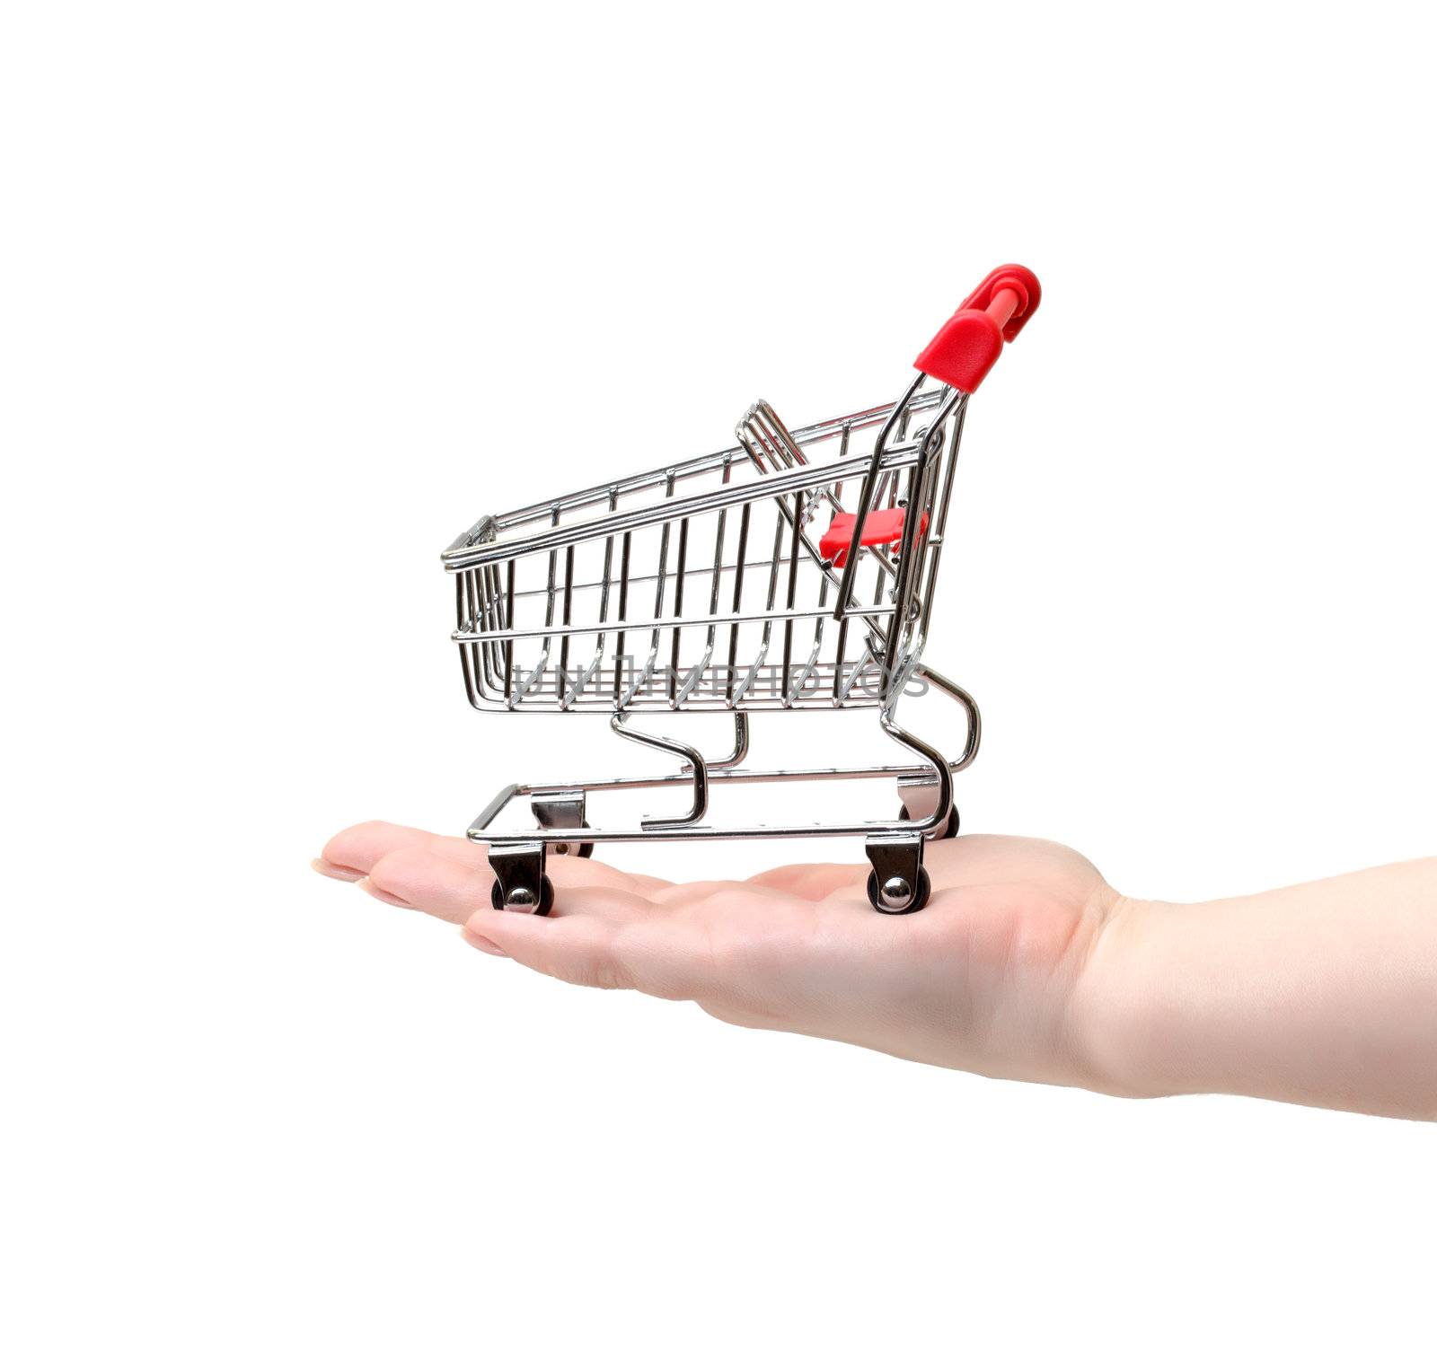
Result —
[{"label": "middle of the three visible fingers, partly hidden by cart's front wheel", "polygon": [[[481,908],[493,908],[494,873],[486,865],[454,857],[443,842],[391,850],[369,872],[365,891],[454,925]],[[553,862],[555,915],[576,912],[631,916],[650,903],[622,886],[624,875],[592,860]],[[619,880],[614,883],[612,880]]]}]

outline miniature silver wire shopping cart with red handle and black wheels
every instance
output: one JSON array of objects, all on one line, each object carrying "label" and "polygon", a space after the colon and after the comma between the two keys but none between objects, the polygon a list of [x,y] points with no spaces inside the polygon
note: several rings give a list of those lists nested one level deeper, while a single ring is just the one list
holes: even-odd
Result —
[{"label": "miniature silver wire shopping cart with red handle and black wheels", "polygon": [[[468,829],[489,845],[496,908],[546,913],[546,853],[593,843],[864,836],[868,899],[881,912],[928,899],[924,842],[953,836],[953,777],[979,750],[979,710],[923,662],[969,396],[1039,302],[1025,267],[996,269],[915,362],[897,404],[790,431],[767,404],[737,445],[532,507],[480,517],[445,552],[454,575],[464,687],[479,710],[605,714],[616,734],[683,760],[642,778],[512,784]],[[947,760],[900,727],[905,689],[923,682],[964,711],[967,737]],[[757,710],[877,710],[917,761],[756,771]],[[733,748],[704,757],[634,727],[650,711],[729,711]],[[890,822],[716,826],[717,786],[891,777]],[[588,796],[673,789],[684,812],[593,827]],[[527,799],[535,822],[496,820]],[[510,814],[513,816],[513,814]]]}]

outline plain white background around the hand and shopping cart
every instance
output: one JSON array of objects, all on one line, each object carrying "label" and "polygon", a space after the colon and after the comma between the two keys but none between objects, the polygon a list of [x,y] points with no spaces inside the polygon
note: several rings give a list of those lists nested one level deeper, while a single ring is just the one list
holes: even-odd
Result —
[{"label": "plain white background around the hand and shopping cart", "polygon": [[308,869],[614,766],[467,707],[456,531],[892,398],[1009,260],[964,827],[1178,901],[1437,849],[1415,10],[4,13],[9,1347],[1431,1346],[1431,1128],[746,1033]]}]

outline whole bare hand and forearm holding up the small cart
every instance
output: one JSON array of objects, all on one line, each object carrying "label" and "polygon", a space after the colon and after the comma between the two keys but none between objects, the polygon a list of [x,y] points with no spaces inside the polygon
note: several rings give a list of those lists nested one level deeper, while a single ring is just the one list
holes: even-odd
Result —
[{"label": "whole bare hand and forearm holding up the small cart", "polygon": [[1109,1094],[1250,1094],[1437,1119],[1437,857],[1217,902],[1125,898],[1052,842],[933,842],[928,906],[867,865],[668,883],[552,856],[553,913],[499,912],[483,846],[371,822],[315,868],[560,981],[749,1028]]}]

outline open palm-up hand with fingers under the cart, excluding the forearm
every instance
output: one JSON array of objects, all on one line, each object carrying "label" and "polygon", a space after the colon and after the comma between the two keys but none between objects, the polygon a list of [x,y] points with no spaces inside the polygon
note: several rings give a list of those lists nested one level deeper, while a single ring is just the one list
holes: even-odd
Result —
[{"label": "open palm-up hand with fingers under the cart, excluding the forearm", "polygon": [[563,981],[990,1076],[1088,1079],[1081,978],[1112,889],[1081,855],[1023,837],[933,842],[925,866],[928,906],[882,916],[865,896],[867,865],[675,885],[555,856],[553,915],[530,916],[493,909],[484,847],[468,840],[365,823],[316,862]]}]

